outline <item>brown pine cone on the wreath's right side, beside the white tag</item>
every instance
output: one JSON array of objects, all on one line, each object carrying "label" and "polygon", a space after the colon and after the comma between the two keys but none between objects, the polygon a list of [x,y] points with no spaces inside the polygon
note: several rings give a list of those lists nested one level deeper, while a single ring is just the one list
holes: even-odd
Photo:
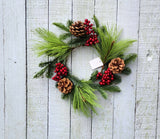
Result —
[{"label": "brown pine cone on the wreath's right side, beside the white tag", "polygon": [[125,67],[124,60],[119,57],[112,59],[108,67],[110,68],[110,71],[113,72],[113,74],[120,73],[122,70],[124,70]]}]

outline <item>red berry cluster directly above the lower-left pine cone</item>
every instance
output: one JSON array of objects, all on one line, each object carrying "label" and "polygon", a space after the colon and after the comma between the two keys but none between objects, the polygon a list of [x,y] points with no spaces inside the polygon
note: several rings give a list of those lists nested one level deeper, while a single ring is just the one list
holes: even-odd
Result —
[{"label": "red berry cluster directly above the lower-left pine cone", "polygon": [[62,63],[56,63],[55,73],[57,73],[52,80],[59,81],[62,79],[63,76],[67,76],[67,67],[64,66]]}]

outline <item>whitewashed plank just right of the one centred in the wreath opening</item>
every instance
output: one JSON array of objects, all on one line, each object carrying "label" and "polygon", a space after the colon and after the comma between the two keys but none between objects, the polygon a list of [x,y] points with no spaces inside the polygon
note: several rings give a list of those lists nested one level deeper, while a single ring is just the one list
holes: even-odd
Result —
[{"label": "whitewashed plank just right of the one centred in the wreath opening", "polygon": [[[95,3],[95,15],[101,24],[116,23],[117,12],[116,0],[98,0]],[[93,115],[92,120],[92,138],[112,139],[112,123],[113,123],[113,94],[108,94],[108,99],[104,100],[98,95],[99,102],[103,109],[98,109],[98,115]]]}]

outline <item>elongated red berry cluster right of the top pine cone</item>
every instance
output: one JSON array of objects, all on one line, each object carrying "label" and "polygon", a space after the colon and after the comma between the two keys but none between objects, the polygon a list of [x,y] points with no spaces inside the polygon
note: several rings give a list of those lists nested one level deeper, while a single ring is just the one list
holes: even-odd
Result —
[{"label": "elongated red berry cluster right of the top pine cone", "polygon": [[88,19],[85,19],[84,25],[86,25],[86,27],[85,27],[86,34],[90,35],[90,38],[86,41],[85,45],[90,46],[92,44],[99,43],[99,40],[97,39],[97,35],[94,32],[94,30],[92,29],[93,24],[91,24]]}]

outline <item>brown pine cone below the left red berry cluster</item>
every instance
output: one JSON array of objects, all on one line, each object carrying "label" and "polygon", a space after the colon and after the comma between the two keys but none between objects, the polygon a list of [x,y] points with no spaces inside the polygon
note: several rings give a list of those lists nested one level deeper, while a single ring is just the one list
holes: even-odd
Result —
[{"label": "brown pine cone below the left red berry cluster", "polygon": [[63,78],[58,82],[58,89],[64,94],[72,91],[73,83],[68,78]]}]

